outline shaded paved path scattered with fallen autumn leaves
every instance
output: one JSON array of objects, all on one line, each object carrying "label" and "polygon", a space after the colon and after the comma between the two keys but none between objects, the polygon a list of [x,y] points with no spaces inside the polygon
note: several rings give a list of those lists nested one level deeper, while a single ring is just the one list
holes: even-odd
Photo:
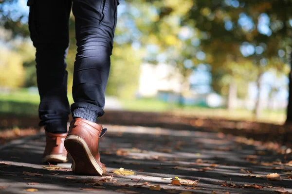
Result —
[{"label": "shaded paved path scattered with fallen autumn leaves", "polygon": [[[109,131],[100,142],[101,161],[108,170],[103,177],[76,176],[71,161],[51,166],[40,163],[45,146],[42,131],[0,146],[0,194],[292,193],[292,164],[288,163],[292,156],[269,149],[276,145],[221,133],[104,127]],[[116,173],[133,175],[112,172],[120,168],[125,171]],[[279,177],[267,179],[271,173]],[[155,185],[160,191],[152,190],[157,189]]]}]

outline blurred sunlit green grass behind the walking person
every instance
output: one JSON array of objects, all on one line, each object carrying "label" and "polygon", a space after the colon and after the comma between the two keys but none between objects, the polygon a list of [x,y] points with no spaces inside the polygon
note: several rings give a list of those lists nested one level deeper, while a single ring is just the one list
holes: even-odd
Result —
[{"label": "blurred sunlit green grass behind the walking person", "polygon": [[[73,103],[72,95],[68,94],[70,104]],[[213,118],[225,118],[235,120],[250,120],[266,123],[282,124],[286,119],[285,110],[262,110],[260,117],[256,119],[250,110],[237,109],[229,112],[224,108],[206,108],[185,106],[166,103],[157,99],[142,98],[134,100],[120,100],[123,108],[128,111],[143,112],[167,112],[186,116],[201,116]],[[37,115],[39,96],[36,91],[21,89],[9,93],[0,93],[0,113],[17,113]]]}]

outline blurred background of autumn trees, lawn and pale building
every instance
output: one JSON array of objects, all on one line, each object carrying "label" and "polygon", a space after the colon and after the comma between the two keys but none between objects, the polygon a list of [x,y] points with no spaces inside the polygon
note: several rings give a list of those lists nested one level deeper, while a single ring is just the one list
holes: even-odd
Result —
[{"label": "blurred background of autumn trees, lawn and pale building", "polygon": [[[26,3],[0,0],[4,114],[38,113]],[[292,0],[120,0],[105,110],[289,122],[291,10]],[[74,35],[71,15],[71,103]]]}]

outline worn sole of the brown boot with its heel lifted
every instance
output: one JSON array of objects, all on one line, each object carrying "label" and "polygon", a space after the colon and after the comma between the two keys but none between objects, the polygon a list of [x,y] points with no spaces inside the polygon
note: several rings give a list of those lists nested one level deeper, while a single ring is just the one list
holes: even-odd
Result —
[{"label": "worn sole of the brown boot with its heel lifted", "polygon": [[66,137],[64,146],[73,160],[71,168],[75,174],[100,176],[103,174],[103,168],[95,161],[82,138],[70,135]]}]

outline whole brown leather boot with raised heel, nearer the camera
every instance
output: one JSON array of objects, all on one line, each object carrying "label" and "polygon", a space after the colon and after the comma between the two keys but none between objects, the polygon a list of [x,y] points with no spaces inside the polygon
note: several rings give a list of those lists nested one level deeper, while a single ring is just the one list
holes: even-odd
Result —
[{"label": "whole brown leather boot with raised heel, nearer the camera", "polygon": [[105,164],[100,162],[98,140],[107,129],[91,121],[75,118],[70,123],[64,145],[72,157],[72,170],[79,175],[102,175]]}]

